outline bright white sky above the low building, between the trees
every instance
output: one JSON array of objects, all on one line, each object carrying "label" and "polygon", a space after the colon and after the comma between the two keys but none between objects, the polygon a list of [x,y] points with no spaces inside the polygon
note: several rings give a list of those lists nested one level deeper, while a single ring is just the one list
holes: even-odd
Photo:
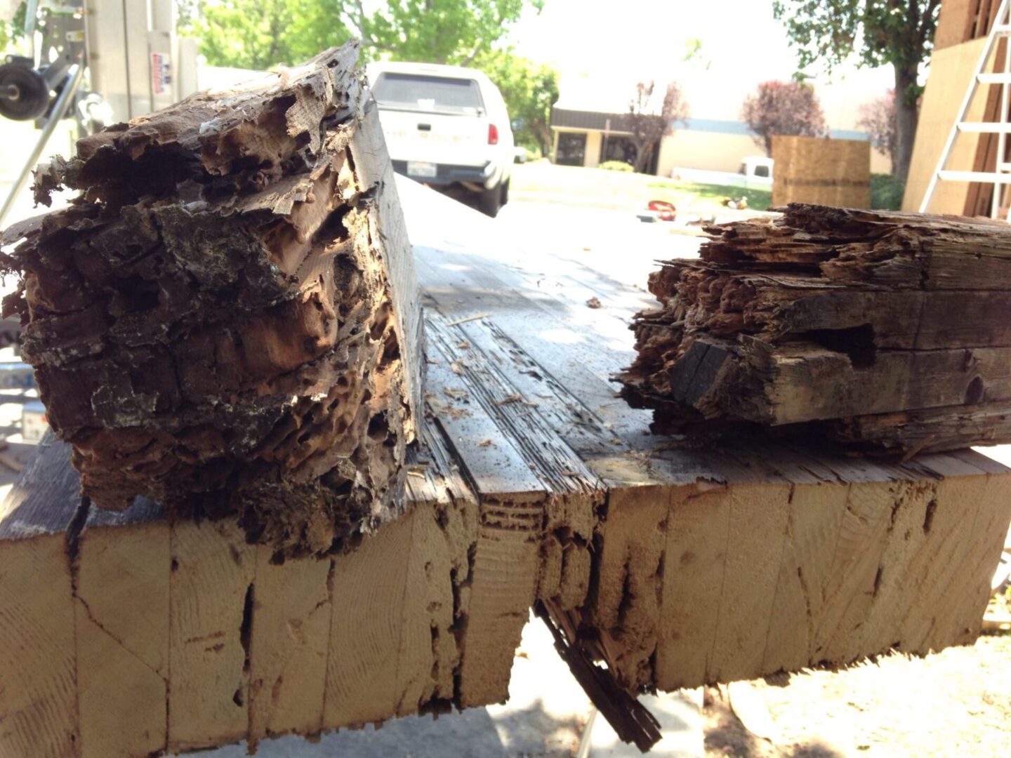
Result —
[{"label": "bright white sky above the low building, between the trees", "polygon": [[[697,117],[736,119],[744,96],[761,81],[797,70],[771,0],[545,0],[510,41],[518,54],[561,73],[562,103],[625,110],[641,79],[675,79]],[[701,39],[684,63],[685,42]],[[817,74],[817,71],[809,71]],[[847,128],[856,106],[893,86],[891,67],[844,66],[818,82],[829,123]],[[610,93],[614,93],[613,95]],[[593,102],[596,104],[594,105]]]}]

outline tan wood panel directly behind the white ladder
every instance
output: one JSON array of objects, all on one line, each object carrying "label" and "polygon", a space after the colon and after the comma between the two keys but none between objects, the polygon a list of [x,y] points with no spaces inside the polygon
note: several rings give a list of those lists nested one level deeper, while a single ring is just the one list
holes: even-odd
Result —
[{"label": "tan wood panel directly behind the white ladder", "polygon": [[[920,106],[920,122],[913,144],[913,158],[902,201],[903,210],[920,209],[920,201],[937,168],[937,160],[951,125],[958,116],[958,107],[969,89],[985,43],[985,38],[974,39],[934,52]],[[967,120],[982,120],[986,101],[985,91],[978,92],[970,104]],[[979,134],[958,134],[951,149],[947,168],[963,171],[972,168],[979,140]],[[969,184],[966,182],[939,182],[930,203],[930,212],[960,215],[966,207],[968,192]]]}]

